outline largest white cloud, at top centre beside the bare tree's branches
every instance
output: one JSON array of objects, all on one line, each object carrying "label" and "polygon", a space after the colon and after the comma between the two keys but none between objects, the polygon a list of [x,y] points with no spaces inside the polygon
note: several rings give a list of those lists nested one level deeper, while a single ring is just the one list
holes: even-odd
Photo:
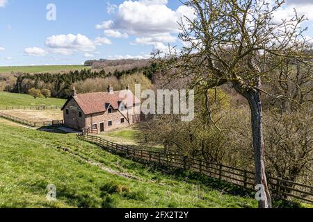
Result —
[{"label": "largest white cloud, at top centre beside the bare tree's branches", "polygon": [[134,35],[136,40],[131,44],[165,49],[166,44],[177,41],[178,23],[186,22],[184,17],[195,17],[192,8],[180,6],[172,10],[167,4],[168,0],[124,1],[116,7],[114,19],[97,25],[97,28],[103,28],[104,35],[109,37]]}]

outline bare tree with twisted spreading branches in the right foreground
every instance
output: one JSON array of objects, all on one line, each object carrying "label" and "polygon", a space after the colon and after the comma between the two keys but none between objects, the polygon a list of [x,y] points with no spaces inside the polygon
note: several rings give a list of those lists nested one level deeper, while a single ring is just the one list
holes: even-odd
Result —
[{"label": "bare tree with twisted spreading branches in the right foreground", "polygon": [[[271,2],[271,3],[268,3]],[[307,42],[300,24],[305,20],[296,11],[290,19],[276,19],[284,1],[266,0],[188,0],[195,18],[182,18],[179,39],[182,51],[170,50],[162,58],[170,78],[188,78],[190,87],[215,89],[234,87],[250,105],[252,145],[255,156],[255,184],[264,187],[259,207],[271,207],[265,172],[262,125],[262,80],[285,58],[302,62]],[[308,62],[304,62],[310,65]],[[271,95],[273,96],[273,95]],[[212,122],[213,119],[211,119]]]}]

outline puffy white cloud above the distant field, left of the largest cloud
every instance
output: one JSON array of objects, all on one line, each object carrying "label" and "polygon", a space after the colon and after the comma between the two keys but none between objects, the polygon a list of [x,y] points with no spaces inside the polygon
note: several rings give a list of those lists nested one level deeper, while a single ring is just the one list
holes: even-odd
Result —
[{"label": "puffy white cloud above the distant field, left of the largest cloud", "polygon": [[68,34],[68,35],[52,35],[47,37],[45,45],[54,53],[63,55],[71,55],[74,51],[95,51],[95,42],[85,35]]}]

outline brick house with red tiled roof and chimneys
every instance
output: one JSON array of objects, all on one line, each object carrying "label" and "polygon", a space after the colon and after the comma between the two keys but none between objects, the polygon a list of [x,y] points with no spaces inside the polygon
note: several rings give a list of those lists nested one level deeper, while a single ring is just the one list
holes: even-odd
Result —
[{"label": "brick house with red tiled roof and chimneys", "polygon": [[[132,104],[127,104],[125,98],[121,98],[121,93],[131,96],[127,98],[131,98]],[[96,133],[124,128],[141,121],[140,114],[134,112],[135,109],[140,110],[140,105],[141,101],[129,87],[123,91],[114,91],[109,86],[106,92],[88,94],[77,94],[74,88],[72,96],[62,108],[64,125],[76,130],[92,129]]]}]

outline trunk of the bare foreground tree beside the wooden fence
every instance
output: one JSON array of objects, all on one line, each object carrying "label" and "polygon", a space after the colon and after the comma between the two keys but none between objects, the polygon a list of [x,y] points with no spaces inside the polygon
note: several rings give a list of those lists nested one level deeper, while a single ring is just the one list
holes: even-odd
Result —
[{"label": "trunk of the bare foreground tree beside the wooden fence", "polygon": [[251,110],[252,142],[255,156],[255,185],[262,185],[262,200],[259,200],[259,208],[271,208],[271,194],[265,174],[265,148],[262,126],[262,102],[260,92],[257,89],[242,90],[235,87],[237,92],[243,95],[249,102]]}]

